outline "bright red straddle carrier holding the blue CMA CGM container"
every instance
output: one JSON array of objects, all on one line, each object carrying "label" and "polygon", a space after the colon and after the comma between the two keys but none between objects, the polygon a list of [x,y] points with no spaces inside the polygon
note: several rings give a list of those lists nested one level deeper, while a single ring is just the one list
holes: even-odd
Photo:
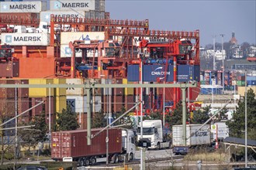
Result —
[{"label": "bright red straddle carrier holding the blue CMA CGM container", "polygon": [[[195,58],[192,56],[193,45],[189,39],[176,39],[172,42],[168,39],[143,39],[140,42],[140,50],[144,53],[144,63],[165,64],[164,82],[167,78],[168,64],[174,65],[174,83],[177,82],[177,64],[195,64]],[[173,100],[175,108],[179,100],[178,88],[174,88]],[[163,102],[163,97],[161,97],[161,107]]]}]

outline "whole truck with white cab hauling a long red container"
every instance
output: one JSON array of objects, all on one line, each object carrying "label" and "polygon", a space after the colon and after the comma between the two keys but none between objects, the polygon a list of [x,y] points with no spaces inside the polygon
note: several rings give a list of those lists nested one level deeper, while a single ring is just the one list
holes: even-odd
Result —
[{"label": "whole truck with white cab hauling a long red container", "polygon": [[[55,161],[78,162],[78,165],[95,165],[98,158],[109,162],[132,161],[136,151],[135,134],[131,130],[109,128],[92,129],[92,145],[87,145],[87,130],[57,131],[51,134],[51,158]],[[108,141],[108,154],[107,145]]]}]

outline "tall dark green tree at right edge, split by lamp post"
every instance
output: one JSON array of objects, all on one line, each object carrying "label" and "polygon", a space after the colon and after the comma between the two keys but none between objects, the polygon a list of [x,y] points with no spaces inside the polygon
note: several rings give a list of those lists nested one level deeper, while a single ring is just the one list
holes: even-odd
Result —
[{"label": "tall dark green tree at right edge, split by lamp post", "polygon": [[[254,90],[247,91],[247,138],[256,140],[256,99]],[[244,138],[245,100],[238,102],[237,110],[233,114],[233,120],[227,121],[230,129],[230,136]]]}]

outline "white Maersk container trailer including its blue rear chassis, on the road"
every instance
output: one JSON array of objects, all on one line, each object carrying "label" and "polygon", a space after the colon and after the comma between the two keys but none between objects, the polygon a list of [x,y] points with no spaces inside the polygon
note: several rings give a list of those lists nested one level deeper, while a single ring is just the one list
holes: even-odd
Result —
[{"label": "white Maersk container trailer including its blue rear chassis, on the road", "polygon": [[[202,128],[200,128],[202,127]],[[200,130],[198,131],[198,129]],[[211,146],[210,125],[186,124],[186,145],[182,142],[182,124],[172,126],[172,152],[175,155],[186,155],[189,148]]]}]

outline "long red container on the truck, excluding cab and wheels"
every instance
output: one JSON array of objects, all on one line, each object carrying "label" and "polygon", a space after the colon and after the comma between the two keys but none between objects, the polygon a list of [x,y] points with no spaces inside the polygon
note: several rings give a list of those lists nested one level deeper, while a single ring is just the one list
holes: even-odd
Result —
[{"label": "long red container on the truck, excluding cab and wheels", "polygon": [[[100,130],[101,128],[92,129],[92,134]],[[106,131],[92,138],[92,145],[86,144],[87,130],[52,132],[51,158],[62,161],[64,157],[106,155]],[[121,152],[123,152],[122,130],[109,128],[109,155]]]}]

